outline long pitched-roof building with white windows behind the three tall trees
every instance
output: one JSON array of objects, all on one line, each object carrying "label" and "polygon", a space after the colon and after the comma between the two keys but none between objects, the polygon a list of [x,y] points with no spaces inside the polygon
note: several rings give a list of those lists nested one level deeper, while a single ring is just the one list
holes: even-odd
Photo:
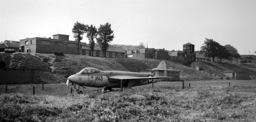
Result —
[{"label": "long pitched-roof building with white windows behind the three tall trees", "polygon": [[[126,57],[127,49],[135,49],[139,47],[140,46],[135,46],[135,45],[108,44],[106,57]],[[82,43],[81,54],[89,55],[89,56],[92,56],[93,54],[93,56],[97,56],[97,57],[104,56],[104,53],[101,51],[100,46],[97,43],[95,44],[93,53],[90,50],[89,44]]]}]

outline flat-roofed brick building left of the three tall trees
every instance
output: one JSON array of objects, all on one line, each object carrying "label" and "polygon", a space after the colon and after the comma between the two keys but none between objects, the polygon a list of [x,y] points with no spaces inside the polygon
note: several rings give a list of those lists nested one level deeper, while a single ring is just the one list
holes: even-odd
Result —
[{"label": "flat-roofed brick building left of the three tall trees", "polygon": [[[69,35],[55,34],[49,38],[26,38],[20,39],[21,52],[51,54],[53,51],[62,51],[64,54],[80,54],[81,43],[70,41]],[[79,48],[77,50],[77,48]]]}]

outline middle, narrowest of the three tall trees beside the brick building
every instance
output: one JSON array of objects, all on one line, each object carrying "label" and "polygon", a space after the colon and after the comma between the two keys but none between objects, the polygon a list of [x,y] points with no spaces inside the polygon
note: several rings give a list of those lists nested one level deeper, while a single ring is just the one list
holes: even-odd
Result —
[{"label": "middle, narrowest of the three tall trees beside the brick building", "polygon": [[89,39],[89,47],[91,49],[92,56],[93,56],[93,51],[94,51],[94,47],[95,47],[94,39],[97,37],[97,35],[98,35],[97,28],[93,25],[91,25],[91,26],[87,25],[86,37]]}]

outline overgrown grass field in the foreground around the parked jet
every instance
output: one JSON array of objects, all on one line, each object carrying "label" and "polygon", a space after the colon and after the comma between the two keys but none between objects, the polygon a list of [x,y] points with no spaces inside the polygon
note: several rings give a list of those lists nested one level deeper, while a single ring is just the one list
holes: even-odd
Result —
[{"label": "overgrown grass field in the foreground around the parked jet", "polygon": [[[59,84],[0,85],[0,121],[255,121],[256,81],[159,82],[102,93]],[[191,89],[188,87],[191,85]],[[230,83],[230,86],[228,85]],[[96,91],[95,91],[96,90]]]}]

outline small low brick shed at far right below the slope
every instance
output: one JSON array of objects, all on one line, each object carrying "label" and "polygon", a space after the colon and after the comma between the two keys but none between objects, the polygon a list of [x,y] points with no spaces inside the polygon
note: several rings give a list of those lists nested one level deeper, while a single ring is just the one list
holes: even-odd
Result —
[{"label": "small low brick shed at far right below the slope", "polygon": [[227,72],[223,73],[224,75],[236,79],[236,80],[249,80],[250,74],[248,72]]}]

